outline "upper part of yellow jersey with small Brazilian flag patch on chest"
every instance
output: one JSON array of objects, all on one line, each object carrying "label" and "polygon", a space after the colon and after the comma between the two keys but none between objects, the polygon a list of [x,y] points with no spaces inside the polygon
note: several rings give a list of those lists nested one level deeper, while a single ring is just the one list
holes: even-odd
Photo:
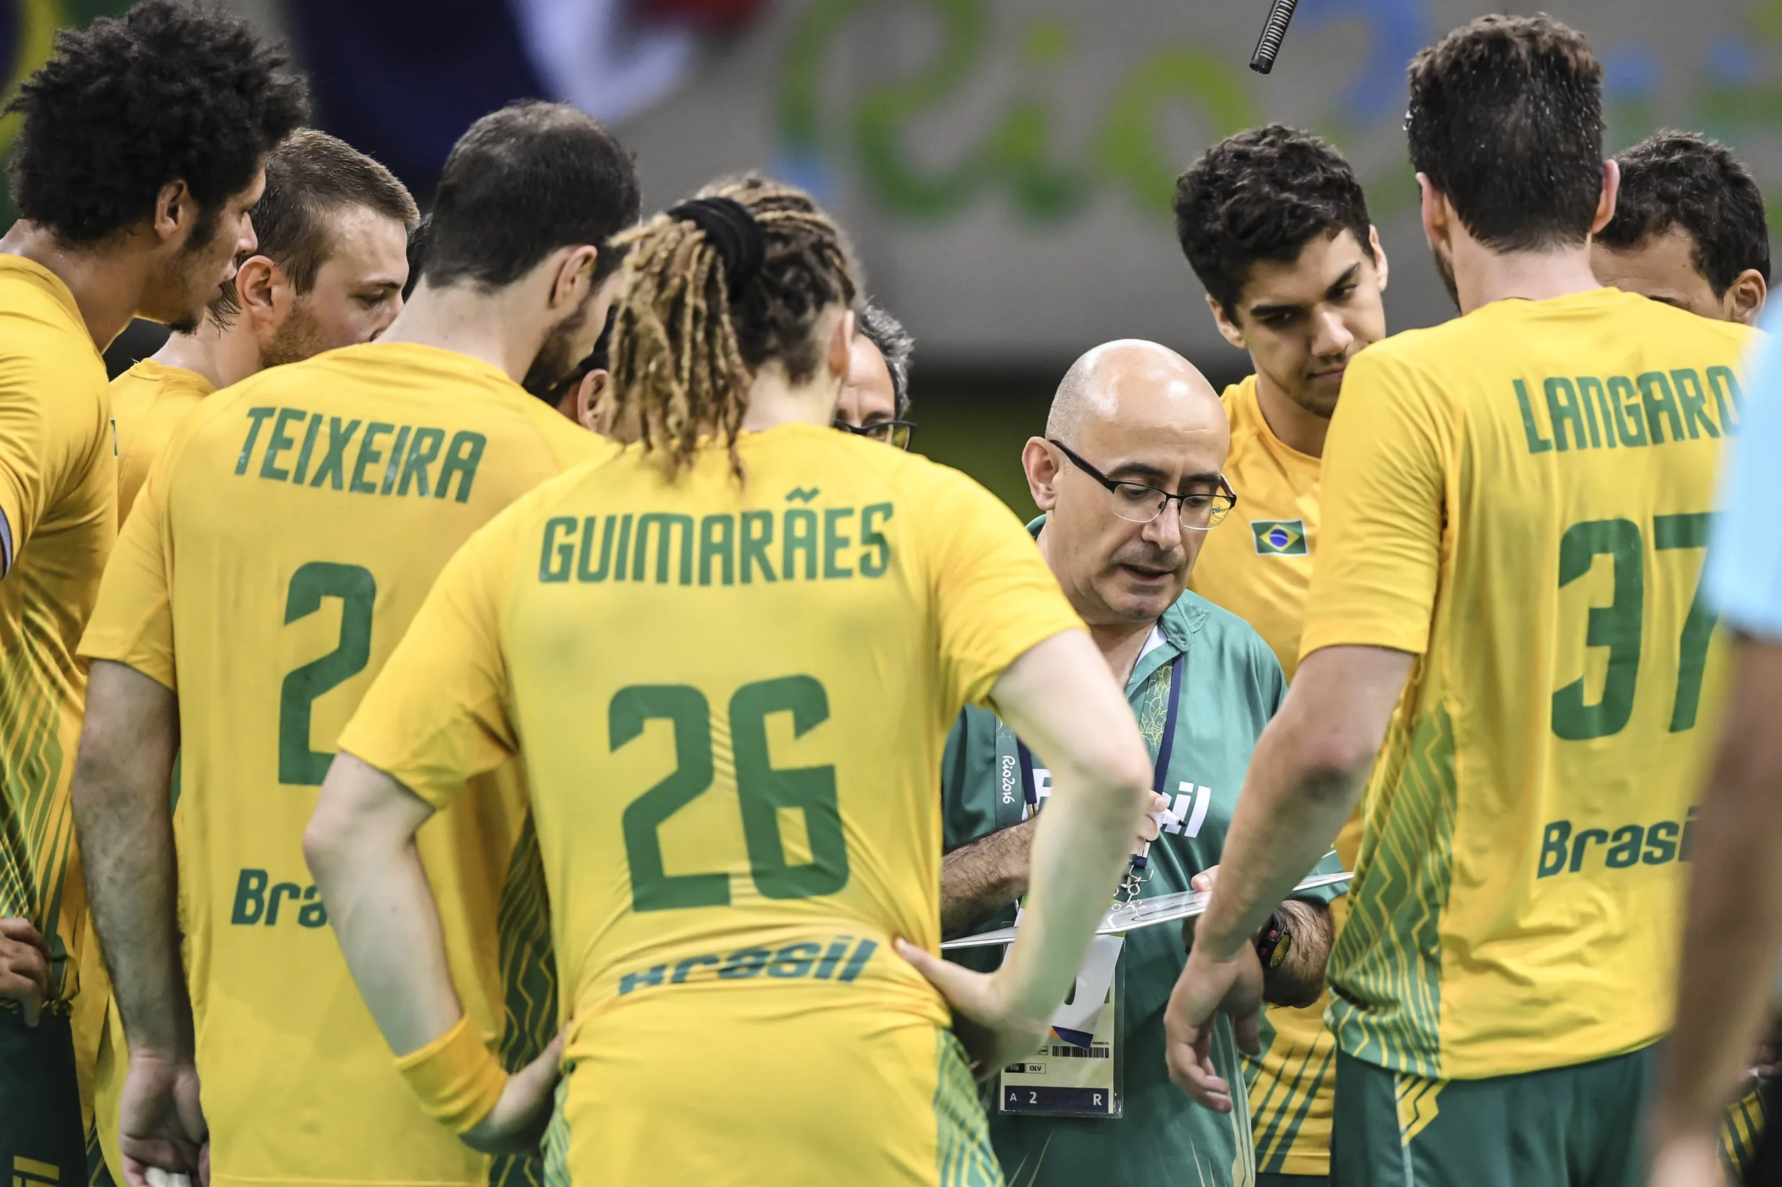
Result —
[{"label": "upper part of yellow jersey with small Brazilian flag patch on chest", "polygon": [[1256,627],[1292,681],[1312,592],[1320,462],[1274,435],[1256,376],[1228,387],[1221,403],[1231,421],[1224,474],[1237,515],[1206,533],[1189,588]]}]

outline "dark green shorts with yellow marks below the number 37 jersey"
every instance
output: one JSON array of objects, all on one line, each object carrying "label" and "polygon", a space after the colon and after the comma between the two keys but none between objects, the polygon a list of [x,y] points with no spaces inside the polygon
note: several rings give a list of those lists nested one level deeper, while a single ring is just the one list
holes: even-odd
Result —
[{"label": "dark green shorts with yellow marks below the number 37 jersey", "polygon": [[1336,1053],[1336,1187],[1639,1187],[1657,1044],[1490,1080],[1424,1080]]}]

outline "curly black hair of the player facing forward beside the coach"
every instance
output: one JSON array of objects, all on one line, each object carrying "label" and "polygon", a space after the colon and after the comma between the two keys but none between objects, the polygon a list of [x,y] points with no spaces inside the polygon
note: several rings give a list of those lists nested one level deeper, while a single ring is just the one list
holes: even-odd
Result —
[{"label": "curly black hair of the player facing forward beside the coach", "polygon": [[1349,232],[1372,257],[1367,196],[1326,141],[1271,123],[1219,141],[1176,178],[1176,239],[1228,317],[1256,260],[1299,258],[1312,239]]}]

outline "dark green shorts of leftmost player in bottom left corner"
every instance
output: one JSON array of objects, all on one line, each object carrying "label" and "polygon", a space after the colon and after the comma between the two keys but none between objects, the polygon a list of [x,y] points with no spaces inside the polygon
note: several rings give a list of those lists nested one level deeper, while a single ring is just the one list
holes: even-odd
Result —
[{"label": "dark green shorts of leftmost player in bottom left corner", "polygon": [[0,1011],[0,1167],[12,1187],[87,1182],[75,1039],[66,1018]]}]

